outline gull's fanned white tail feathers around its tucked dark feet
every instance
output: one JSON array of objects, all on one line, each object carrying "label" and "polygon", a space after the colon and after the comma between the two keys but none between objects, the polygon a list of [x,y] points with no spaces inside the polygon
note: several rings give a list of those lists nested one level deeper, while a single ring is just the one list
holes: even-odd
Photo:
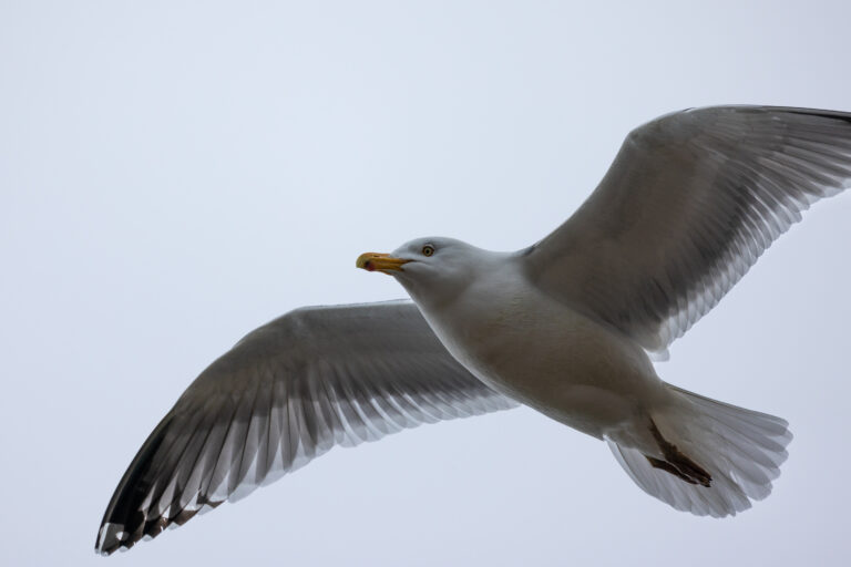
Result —
[{"label": "gull's fanned white tail feathers around its tucked dark feet", "polygon": [[[675,402],[653,413],[655,434],[684,457],[671,465],[608,440],[612,453],[650,496],[698,516],[736,515],[771,493],[792,440],[780,417],[721,403],[666,384]],[[697,466],[698,476],[690,471]],[[708,473],[705,482],[700,474]],[[690,477],[689,477],[690,476]],[[697,481],[695,481],[697,478]],[[708,486],[707,486],[708,485]]]}]

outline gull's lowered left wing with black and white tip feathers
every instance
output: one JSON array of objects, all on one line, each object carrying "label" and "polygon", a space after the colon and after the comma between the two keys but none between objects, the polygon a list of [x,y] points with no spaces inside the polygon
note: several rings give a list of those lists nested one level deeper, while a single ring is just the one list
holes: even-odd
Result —
[{"label": "gull's lowered left wing with black and white tip feathers", "polygon": [[95,549],[154,537],[335,445],[515,405],[455,362],[411,302],[293,311],[177,400],[119,483]]}]

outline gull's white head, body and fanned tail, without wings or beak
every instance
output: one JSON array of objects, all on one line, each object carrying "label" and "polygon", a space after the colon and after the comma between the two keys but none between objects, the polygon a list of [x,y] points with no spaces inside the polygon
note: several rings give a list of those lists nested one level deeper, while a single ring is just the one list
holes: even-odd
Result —
[{"label": "gull's white head, body and fanned tail, without wings or beak", "polygon": [[[443,255],[438,277],[408,266],[420,249]],[[663,382],[635,339],[534,285],[531,254],[431,237],[390,257],[408,266],[394,277],[455,360],[507,399],[606,440],[649,494],[717,517],[765,497],[786,460],[786,422]]]}]

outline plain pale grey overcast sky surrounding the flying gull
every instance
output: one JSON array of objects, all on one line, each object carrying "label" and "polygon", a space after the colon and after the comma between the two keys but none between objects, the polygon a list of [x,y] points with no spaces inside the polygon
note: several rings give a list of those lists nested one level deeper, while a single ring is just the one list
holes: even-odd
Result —
[{"label": "plain pale grey overcast sky surrounding the flying gull", "polygon": [[668,111],[851,111],[848,2],[700,4],[3,0],[0,564],[845,560],[848,194],[658,367],[791,422],[775,493],[736,518],[673,511],[522,409],[335,450],[92,551],[125,466],[209,361],[298,306],[403,296],[355,269],[361,251],[526,246]]}]

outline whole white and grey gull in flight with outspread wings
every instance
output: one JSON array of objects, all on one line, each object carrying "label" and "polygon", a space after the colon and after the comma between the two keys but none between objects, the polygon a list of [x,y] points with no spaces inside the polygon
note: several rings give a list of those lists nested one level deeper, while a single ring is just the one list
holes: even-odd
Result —
[{"label": "whole white and grey gull in flight with outspread wings", "polygon": [[412,301],[307,307],[248,333],[142,445],[95,550],[155,537],[336,445],[520,404],[605,441],[678,511],[745,511],[780,474],[787,422],[669,384],[653,361],[850,184],[851,113],[686,110],[634,130],[587,200],[527,248],[428,237],[363,254],[358,268]]}]

